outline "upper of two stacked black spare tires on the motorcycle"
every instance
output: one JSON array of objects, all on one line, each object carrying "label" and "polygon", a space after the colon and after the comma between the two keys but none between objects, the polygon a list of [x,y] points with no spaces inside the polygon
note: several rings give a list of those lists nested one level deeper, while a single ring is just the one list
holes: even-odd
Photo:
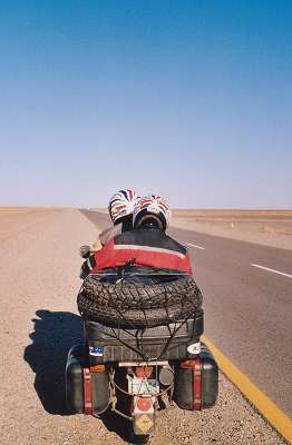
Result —
[{"label": "upper of two stacked black spare tires on the motorcycle", "polygon": [[103,281],[99,275],[88,275],[80,289],[88,303],[116,309],[154,309],[195,301],[201,291],[191,276],[178,275],[158,284],[127,284]]}]

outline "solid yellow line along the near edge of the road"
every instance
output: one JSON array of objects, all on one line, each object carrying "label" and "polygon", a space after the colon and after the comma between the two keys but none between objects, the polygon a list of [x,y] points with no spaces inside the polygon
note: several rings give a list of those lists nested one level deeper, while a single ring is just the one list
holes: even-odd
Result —
[{"label": "solid yellow line along the near edge of the road", "polygon": [[292,444],[292,421],[284,414],[252,380],[243,374],[237,366],[216,347],[213,343],[202,337],[202,340],[212,350],[221,370],[240,389],[240,392],[259,409],[266,421]]}]

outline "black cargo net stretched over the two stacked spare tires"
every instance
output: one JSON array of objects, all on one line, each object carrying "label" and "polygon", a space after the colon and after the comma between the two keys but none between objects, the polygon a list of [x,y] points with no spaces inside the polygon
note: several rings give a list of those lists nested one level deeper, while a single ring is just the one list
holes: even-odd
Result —
[{"label": "black cargo net stretched over the two stacked spare tires", "polygon": [[[110,327],[113,338],[148,360],[154,357],[146,357],[143,350],[145,330],[168,327],[169,336],[159,354],[163,356],[186,319],[201,309],[202,294],[187,274],[128,264],[88,275],[79,290],[77,305],[85,320]],[[135,337],[136,348],[121,338],[120,329]]]}]

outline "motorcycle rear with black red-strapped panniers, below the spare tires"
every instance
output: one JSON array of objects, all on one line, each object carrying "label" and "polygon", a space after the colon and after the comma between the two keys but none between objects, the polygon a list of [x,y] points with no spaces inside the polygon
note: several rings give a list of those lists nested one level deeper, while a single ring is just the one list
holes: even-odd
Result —
[{"label": "motorcycle rear with black red-strapped panniers, below the spare tires", "polygon": [[[127,276],[124,270],[123,278],[119,274],[113,281],[115,274],[109,275],[109,286]],[[128,276],[133,279],[133,268]],[[115,324],[84,316],[84,343],[71,347],[66,365],[66,400],[71,413],[100,416],[111,411],[128,421],[133,443],[147,443],[158,411],[167,405],[175,403],[188,411],[214,406],[218,368],[201,342],[202,307],[192,317],[176,315],[175,320],[148,326],[147,320],[133,325],[123,322],[123,313],[119,316]]]}]

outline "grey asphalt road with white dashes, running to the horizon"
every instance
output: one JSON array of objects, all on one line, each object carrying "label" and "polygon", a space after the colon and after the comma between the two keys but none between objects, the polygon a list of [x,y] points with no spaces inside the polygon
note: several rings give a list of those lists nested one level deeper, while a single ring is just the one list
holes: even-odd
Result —
[{"label": "grey asphalt road with white dashes, running to the horizon", "polygon": [[[82,212],[108,227],[107,215]],[[292,251],[177,228],[169,235],[189,244],[205,335],[291,416]]]}]

